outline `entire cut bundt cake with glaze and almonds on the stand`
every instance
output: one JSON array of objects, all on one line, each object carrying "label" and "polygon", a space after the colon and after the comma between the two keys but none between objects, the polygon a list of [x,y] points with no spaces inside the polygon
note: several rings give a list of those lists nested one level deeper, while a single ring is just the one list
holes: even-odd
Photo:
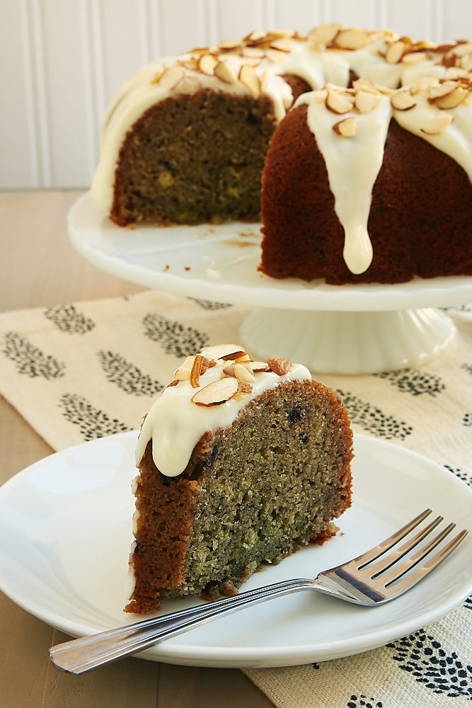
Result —
[{"label": "entire cut bundt cake with glaze and almonds on the stand", "polygon": [[[265,275],[339,284],[469,274],[464,244],[470,249],[471,72],[468,40],[438,45],[338,24],[318,25],[304,36],[253,32],[161,59],[129,79],[110,104],[91,195],[120,226],[259,220],[261,175],[277,130],[264,178]],[[359,80],[364,84],[358,91],[335,89],[351,89]],[[324,93],[304,98],[312,91]],[[313,115],[323,113],[313,108],[320,101],[328,106],[323,122],[336,139],[321,139],[319,125],[311,125]],[[304,116],[311,116],[308,123]],[[371,156],[361,154],[367,142],[374,149],[373,138],[362,137],[369,123],[376,124],[372,165]],[[292,131],[306,153],[299,144],[294,154],[283,152]],[[350,200],[333,197],[326,180],[334,168],[324,166],[326,154],[323,165],[318,159],[320,143],[335,148],[342,160],[356,154],[355,164],[348,168],[347,161],[342,170]],[[315,163],[309,178],[307,154]],[[375,169],[361,171],[367,165]],[[272,174],[280,179],[286,166],[287,193],[282,184],[270,186]],[[340,181],[339,166],[334,171]],[[317,188],[307,181],[313,178]],[[343,202],[350,219],[356,212],[360,219],[360,225],[352,223],[359,231],[351,229],[346,246],[345,223],[339,221],[347,215],[338,213]],[[287,214],[283,204],[289,205]],[[295,212],[299,223],[292,236],[286,225]],[[316,215],[316,224],[309,215]]]}]

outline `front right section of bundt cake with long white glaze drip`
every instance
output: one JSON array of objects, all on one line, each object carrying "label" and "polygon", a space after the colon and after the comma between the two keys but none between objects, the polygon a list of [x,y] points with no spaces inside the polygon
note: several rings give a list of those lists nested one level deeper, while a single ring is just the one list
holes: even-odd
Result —
[{"label": "front right section of bundt cake with long white glaze drip", "polygon": [[263,172],[260,269],[405,282],[472,275],[472,79],[305,93]]}]

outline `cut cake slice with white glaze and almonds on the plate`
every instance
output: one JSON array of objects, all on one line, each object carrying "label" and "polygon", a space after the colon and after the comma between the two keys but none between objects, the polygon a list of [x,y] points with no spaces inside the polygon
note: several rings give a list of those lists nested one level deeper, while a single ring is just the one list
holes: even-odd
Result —
[{"label": "cut cake slice with white glaze and almonds on the plate", "polygon": [[343,404],[306,367],[231,344],[188,357],[139,435],[125,610],[234,594],[260,564],[334,535],[351,459]]}]

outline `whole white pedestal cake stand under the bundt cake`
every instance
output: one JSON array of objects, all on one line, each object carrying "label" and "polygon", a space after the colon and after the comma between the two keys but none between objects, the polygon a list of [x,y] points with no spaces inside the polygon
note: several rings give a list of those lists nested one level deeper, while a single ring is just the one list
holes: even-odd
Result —
[{"label": "whole white pedestal cake stand under the bundt cake", "polygon": [[69,213],[71,241],[88,261],[125,280],[215,302],[250,305],[242,343],[312,372],[364,374],[420,365],[456,328],[436,309],[472,302],[472,278],[399,285],[326,285],[258,272],[260,224],[121,229],[82,196]]}]

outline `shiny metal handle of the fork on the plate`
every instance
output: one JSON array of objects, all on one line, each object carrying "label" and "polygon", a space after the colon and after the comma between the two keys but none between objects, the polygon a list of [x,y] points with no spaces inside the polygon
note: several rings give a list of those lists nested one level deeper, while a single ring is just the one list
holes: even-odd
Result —
[{"label": "shiny metal handle of the fork on the plate", "polygon": [[85,673],[143,649],[149,649],[158,641],[187,632],[188,629],[210,622],[217,617],[243,610],[249,605],[263,603],[265,600],[289,593],[313,589],[316,589],[316,583],[306,578],[274,583],[208,605],[190,607],[188,610],[173,612],[171,615],[144,619],[119,629],[108,629],[91,636],[65,641],[50,649],[50,658],[57,668],[74,674]]}]

